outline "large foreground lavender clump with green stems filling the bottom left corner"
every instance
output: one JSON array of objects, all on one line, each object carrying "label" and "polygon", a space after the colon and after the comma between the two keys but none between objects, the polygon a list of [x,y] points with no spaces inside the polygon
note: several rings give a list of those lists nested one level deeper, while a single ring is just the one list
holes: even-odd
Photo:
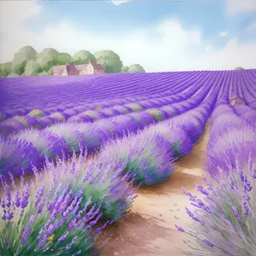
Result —
[{"label": "large foreground lavender clump with green stems filling the bottom left corner", "polygon": [[[22,176],[20,188],[10,174],[14,192],[2,177],[0,254],[89,255],[101,230],[122,218],[137,196],[133,177],[121,177],[123,168],[111,160],[87,160],[82,151],[55,164],[46,159],[45,172],[34,168],[35,180],[27,183]],[[101,227],[100,219],[109,220]]]}]

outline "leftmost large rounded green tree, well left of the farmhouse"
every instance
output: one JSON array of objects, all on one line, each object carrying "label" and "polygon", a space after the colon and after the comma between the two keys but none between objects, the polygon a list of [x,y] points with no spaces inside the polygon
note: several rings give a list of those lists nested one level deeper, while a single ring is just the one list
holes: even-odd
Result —
[{"label": "leftmost large rounded green tree, well left of the farmhouse", "polygon": [[38,52],[32,46],[24,46],[14,55],[11,73],[21,75],[25,71],[26,62],[37,58]]}]

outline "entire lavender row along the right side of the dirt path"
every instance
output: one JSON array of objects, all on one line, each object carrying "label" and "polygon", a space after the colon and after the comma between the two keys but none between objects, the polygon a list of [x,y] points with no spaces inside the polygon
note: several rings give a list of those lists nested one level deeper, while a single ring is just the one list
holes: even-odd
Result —
[{"label": "entire lavender row along the right side of the dirt path", "polygon": [[[256,133],[223,104],[212,113],[210,142],[207,147],[207,188],[197,185],[202,199],[189,196],[193,224],[176,226],[188,236],[189,255],[248,255],[256,252]],[[221,104],[219,103],[221,102]]]}]

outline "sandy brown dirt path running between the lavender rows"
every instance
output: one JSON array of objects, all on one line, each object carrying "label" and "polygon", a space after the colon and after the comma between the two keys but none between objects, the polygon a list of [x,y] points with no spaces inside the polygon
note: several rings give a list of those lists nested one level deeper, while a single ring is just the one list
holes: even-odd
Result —
[{"label": "sandy brown dirt path running between the lavender rows", "polygon": [[203,184],[203,158],[208,142],[209,124],[189,156],[177,162],[176,172],[165,183],[142,188],[131,213],[118,224],[109,226],[102,239],[109,237],[101,248],[101,256],[183,256],[183,233],[174,224],[188,223],[184,207],[188,196],[182,187],[198,195],[194,183]]}]

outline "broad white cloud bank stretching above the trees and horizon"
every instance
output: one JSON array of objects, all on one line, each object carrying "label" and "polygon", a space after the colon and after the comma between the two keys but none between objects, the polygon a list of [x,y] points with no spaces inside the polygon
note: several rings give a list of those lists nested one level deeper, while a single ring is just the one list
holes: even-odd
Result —
[{"label": "broad white cloud bank stretching above the trees and horizon", "polygon": [[[21,7],[23,3],[26,8]],[[21,24],[26,18],[38,14],[40,9],[30,1],[16,4],[18,9],[23,8],[22,15],[7,15],[1,24],[8,38],[1,42],[0,61],[10,61],[22,46],[32,45],[38,51],[53,47],[72,55],[79,49],[91,52],[113,49],[125,66],[139,63],[147,72],[256,67],[256,44],[239,45],[233,38],[224,49],[217,50],[214,45],[203,44],[199,30],[184,30],[177,20],[166,20],[150,29],[104,36],[89,31],[86,26],[79,30],[67,22],[47,26],[37,33],[26,31]],[[13,23],[9,24],[12,19]],[[16,28],[14,24],[20,25]]]}]

